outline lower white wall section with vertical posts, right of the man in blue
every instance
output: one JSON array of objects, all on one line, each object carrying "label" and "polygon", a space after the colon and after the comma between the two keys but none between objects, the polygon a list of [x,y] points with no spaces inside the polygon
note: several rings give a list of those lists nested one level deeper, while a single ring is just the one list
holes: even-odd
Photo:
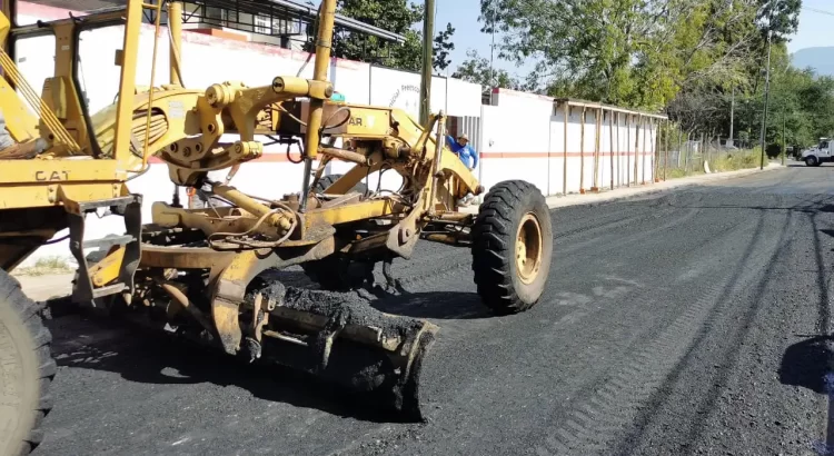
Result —
[{"label": "lower white wall section with vertical posts, right of the man in blue", "polygon": [[480,115],[487,188],[524,178],[560,195],[610,189],[612,176],[615,188],[654,181],[656,120],[604,110],[597,138],[597,109],[586,108],[583,121],[583,108],[572,107],[566,125],[564,105],[552,98],[498,89],[493,99]]}]

